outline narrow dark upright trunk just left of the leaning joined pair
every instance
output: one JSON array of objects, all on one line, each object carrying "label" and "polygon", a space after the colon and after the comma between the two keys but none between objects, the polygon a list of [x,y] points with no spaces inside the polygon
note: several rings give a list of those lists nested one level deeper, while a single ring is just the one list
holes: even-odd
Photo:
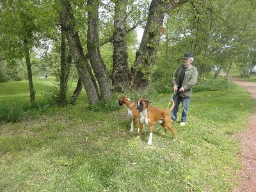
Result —
[{"label": "narrow dark upright trunk just left of the leaning joined pair", "polygon": [[60,93],[59,106],[64,107],[67,97],[68,74],[72,63],[72,55],[66,45],[66,31],[61,27],[61,61],[60,61]]}]

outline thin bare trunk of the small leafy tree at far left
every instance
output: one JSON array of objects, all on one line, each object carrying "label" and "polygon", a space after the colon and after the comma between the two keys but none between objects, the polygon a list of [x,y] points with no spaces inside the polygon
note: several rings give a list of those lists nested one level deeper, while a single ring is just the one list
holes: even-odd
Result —
[{"label": "thin bare trunk of the small leafy tree at far left", "polygon": [[29,49],[28,49],[28,40],[24,40],[24,47],[25,47],[25,57],[26,57],[26,65],[28,70],[28,84],[29,84],[29,93],[30,93],[30,103],[33,104],[35,102],[35,92],[33,86],[33,79],[32,79],[32,70],[31,70],[31,63],[30,63],[30,56],[29,56]]}]

